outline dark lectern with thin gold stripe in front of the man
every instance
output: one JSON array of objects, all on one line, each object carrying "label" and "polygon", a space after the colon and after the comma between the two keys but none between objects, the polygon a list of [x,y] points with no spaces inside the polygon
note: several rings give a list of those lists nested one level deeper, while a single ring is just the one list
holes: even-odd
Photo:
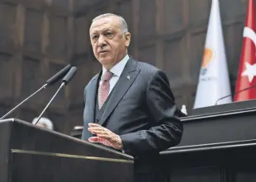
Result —
[{"label": "dark lectern with thin gold stripe in front of the man", "polygon": [[0,182],[130,182],[132,156],[40,128],[0,120]]}]

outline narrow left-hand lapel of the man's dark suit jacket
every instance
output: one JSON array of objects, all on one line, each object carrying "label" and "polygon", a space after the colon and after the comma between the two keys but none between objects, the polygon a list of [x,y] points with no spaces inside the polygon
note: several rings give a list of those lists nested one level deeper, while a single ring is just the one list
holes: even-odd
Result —
[{"label": "narrow left-hand lapel of the man's dark suit jacket", "polygon": [[89,107],[89,114],[90,114],[90,122],[95,121],[95,107],[96,107],[96,96],[97,96],[97,83],[99,81],[99,76],[101,75],[101,72],[99,72],[92,80],[92,87],[90,94],[88,98],[90,99],[88,102],[88,107]]}]

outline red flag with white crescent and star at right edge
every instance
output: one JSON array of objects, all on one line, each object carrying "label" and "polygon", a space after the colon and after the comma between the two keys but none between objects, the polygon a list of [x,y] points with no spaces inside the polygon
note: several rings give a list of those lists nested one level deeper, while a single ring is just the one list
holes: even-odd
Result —
[{"label": "red flag with white crescent and star at right edge", "polygon": [[[248,1],[244,40],[235,92],[256,85],[256,10],[255,1]],[[234,101],[256,99],[256,86],[235,95]]]}]

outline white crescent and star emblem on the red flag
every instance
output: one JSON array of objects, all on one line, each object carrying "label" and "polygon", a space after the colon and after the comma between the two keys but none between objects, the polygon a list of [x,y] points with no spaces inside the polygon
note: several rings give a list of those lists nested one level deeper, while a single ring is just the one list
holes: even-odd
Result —
[{"label": "white crescent and star emblem on the red flag", "polygon": [[[250,29],[249,27],[244,27],[244,37],[249,38],[253,41],[255,48],[256,48],[256,33],[254,30]],[[255,51],[256,56],[256,51]],[[250,64],[248,62],[245,63],[245,70],[242,72],[243,77],[248,77],[249,82],[252,82],[254,76],[256,76],[256,63]]]}]

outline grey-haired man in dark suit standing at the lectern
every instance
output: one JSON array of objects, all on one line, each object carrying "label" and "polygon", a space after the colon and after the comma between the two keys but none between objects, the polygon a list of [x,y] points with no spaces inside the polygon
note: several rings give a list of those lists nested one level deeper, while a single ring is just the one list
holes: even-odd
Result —
[{"label": "grey-haired man in dark suit standing at the lectern", "polygon": [[90,39],[102,71],[84,89],[82,138],[134,156],[135,181],[160,182],[154,159],[183,135],[168,78],[129,57],[130,33],[121,16],[97,16]]}]

